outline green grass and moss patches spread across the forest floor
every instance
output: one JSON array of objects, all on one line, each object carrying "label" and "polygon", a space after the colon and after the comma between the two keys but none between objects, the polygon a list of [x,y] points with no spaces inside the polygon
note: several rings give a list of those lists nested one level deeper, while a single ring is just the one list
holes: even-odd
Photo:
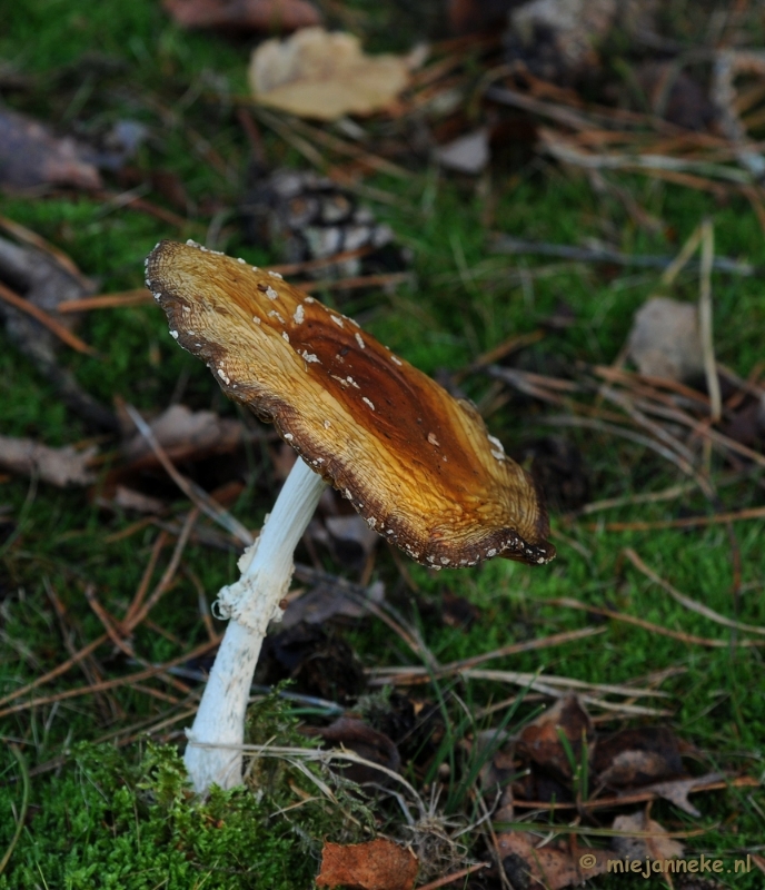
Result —
[{"label": "green grass and moss patches spread across the forest floor", "polygon": [[[9,93],[9,105],[85,132],[105,130],[126,117],[141,120],[149,126],[151,138],[136,161],[139,166],[176,172],[197,206],[215,197],[223,212],[236,207],[246,172],[247,144],[225,96],[245,90],[246,43],[182,32],[150,0],[100,6],[85,0],[34,0],[23,8],[14,7],[10,14],[9,11],[8,2],[0,4],[0,20],[4,22],[0,60],[33,78],[31,90]],[[360,21],[369,23],[381,46],[377,20],[370,18],[371,13],[366,14]],[[96,50],[102,59],[118,60],[120,65],[110,68],[93,61]],[[165,110],[158,110],[148,97],[160,100]],[[167,109],[173,111],[172,117],[168,117]],[[225,159],[226,171],[210,166],[200,155],[195,134]],[[267,145],[275,164],[298,162],[294,152],[278,141],[269,138]],[[666,241],[636,230],[620,207],[596,198],[584,180],[565,178],[554,170],[539,174],[531,168],[521,170],[520,177],[511,177],[510,171],[494,174],[493,228],[526,238],[576,243],[586,236],[603,237],[605,227],[610,226],[620,234],[624,250],[669,253],[705,215],[712,215],[719,254],[765,263],[763,235],[745,202],[732,200],[718,207],[708,196],[688,190],[638,178],[624,181],[646,209],[672,227],[674,238]],[[344,312],[356,314],[384,343],[428,373],[440,367],[459,368],[509,336],[535,329],[562,300],[576,314],[574,326],[548,334],[528,352],[529,363],[555,375],[577,359],[612,362],[624,343],[633,313],[655,293],[655,277],[625,273],[612,279],[596,267],[567,269],[533,278],[530,285],[521,286],[511,274],[519,267],[533,271],[537,260],[514,260],[489,253],[488,234],[481,225],[485,199],[473,185],[455,182],[427,169],[418,171],[407,186],[384,177],[372,185],[397,192],[410,205],[407,210],[387,205],[376,206],[375,210],[414,251],[417,283],[394,296],[349,296],[341,305]],[[161,202],[156,196],[149,197]],[[139,286],[142,259],[157,240],[205,239],[211,221],[209,214],[199,212],[178,231],[130,209],[107,211],[102,202],[86,197],[3,197],[1,211],[69,253],[80,268],[98,279],[102,290]],[[259,264],[272,259],[241,246],[230,219],[223,227],[220,246]],[[695,299],[696,287],[687,276],[674,293]],[[718,357],[746,376],[762,357],[762,283],[715,276],[714,300]],[[207,369],[169,338],[165,318],[155,306],[89,313],[80,333],[97,348],[98,357],[62,353],[61,360],[103,403],[111,404],[119,397],[139,408],[159,409],[167,405],[179,375],[188,373],[187,404],[234,414],[235,408],[221,398]],[[481,377],[469,378],[465,388],[478,400],[488,383]],[[3,435],[30,436],[50,445],[73,443],[86,435],[50,385],[1,334],[0,406]],[[513,398],[489,417],[489,425],[509,445],[549,432],[537,425],[537,413],[527,402]],[[583,431],[573,431],[568,437],[585,455],[593,500],[657,491],[678,481],[667,465],[633,445]],[[260,465],[259,455],[252,461],[254,467]],[[721,488],[725,506],[761,504],[762,494],[753,478]],[[82,645],[102,632],[85,604],[85,587],[95,585],[105,607],[115,615],[122,614],[140,582],[157,530],[148,527],[127,540],[108,543],[105,537],[125,530],[132,516],[106,514],[82,492],[56,491],[17,477],[0,483],[0,505],[7,506],[17,522],[12,538],[2,548],[0,574],[0,693],[4,694],[67,657],[47,590],[53,590],[64,603],[74,627],[74,644]],[[179,512],[182,506],[179,498]],[[250,487],[234,512],[242,522],[256,526],[267,508]],[[615,510],[607,518],[660,520],[679,515],[680,508],[708,507],[689,494],[677,502]],[[396,604],[408,610],[419,624],[427,645],[440,662],[490,651],[511,640],[597,623],[587,613],[546,604],[566,596],[688,634],[728,639],[728,631],[680,607],[625,562],[620,556],[625,546],[633,547],[675,587],[713,610],[745,623],[765,624],[765,604],[759,595],[765,556],[759,543],[762,530],[755,523],[736,526],[742,565],[737,603],[731,594],[731,547],[722,527],[617,534],[590,531],[584,521],[569,522],[559,516],[553,517],[553,525],[564,536],[556,537],[558,558],[545,568],[529,570],[496,561],[477,571],[434,575],[413,565],[409,572],[420,591],[414,602],[397,593],[400,584],[387,557],[380,557],[376,571],[388,582]],[[186,566],[199,577],[209,599],[235,576],[235,554],[198,545],[190,545],[185,554]],[[470,631],[420,620],[419,613],[445,589],[480,607],[481,619]],[[152,612],[160,626],[182,641],[183,650],[206,639],[196,602],[196,590],[183,574]],[[673,710],[670,725],[701,751],[701,761],[694,769],[701,772],[745,768],[754,775],[762,772],[765,685],[761,650],[701,649],[622,623],[606,622],[602,626],[605,632],[589,640],[516,655],[491,666],[530,672],[544,668],[549,673],[608,683],[625,683],[669,668],[683,669],[667,679],[662,690],[672,695],[666,700]],[[416,663],[416,656],[397,639],[380,645],[386,637],[375,620],[346,635],[368,666]],[[146,627],[137,631],[135,644],[151,661],[176,657],[183,651]],[[121,656],[110,655],[106,646],[99,655],[108,676],[135,670]],[[74,669],[36,694],[52,694],[85,683]],[[476,681],[457,691],[479,706],[511,694],[513,688]],[[446,702],[446,708],[451,708],[448,695]],[[115,703],[119,711],[113,710]],[[3,719],[2,738],[21,745],[32,778],[27,823],[0,887],[139,890],[167,886],[178,890],[228,890],[288,887],[296,886],[298,878],[304,884],[310,880],[316,860],[301,852],[297,834],[290,833],[291,822],[288,825],[288,821],[269,818],[274,807],[268,809],[245,792],[217,795],[207,808],[189,804],[178,778],[178,763],[171,755],[181,741],[179,733],[173,734],[177,728],[161,736],[160,741],[168,743],[165,748],[148,755],[138,742],[119,751],[82,748],[76,749],[79,753],[69,755],[62,768],[34,773],[36,767],[53,761],[79,743],[110,733],[127,739],[132,726],[157,720],[166,709],[166,704],[138,689],[122,688],[108,701],[87,695]],[[530,705],[521,705],[510,728],[531,712]],[[501,714],[493,720],[497,725]],[[465,731],[470,729],[468,725]],[[454,753],[453,749],[445,756]],[[6,780],[0,788],[1,854],[13,833],[14,819],[9,813],[11,807],[18,813],[21,788],[16,759],[10,751],[0,758],[0,777]],[[171,793],[162,792],[162,777]],[[10,780],[13,781],[9,783]],[[454,795],[461,791],[457,785],[449,791],[454,804]],[[667,828],[708,829],[688,841],[689,851],[733,860],[739,851],[761,844],[765,831],[765,795],[761,790],[731,789],[695,795],[693,800],[703,812],[701,820],[691,819],[667,803],[655,804],[652,811]],[[296,815],[295,823],[318,832],[312,837],[315,853],[321,833],[318,823],[301,819]],[[223,828],[210,828],[217,824],[216,820]],[[201,831],[203,841],[191,838],[192,829]],[[236,874],[229,873],[229,866],[221,866],[223,852],[235,856],[237,864],[231,869]],[[302,870],[285,876],[279,871],[281,862]],[[259,877],[256,880],[254,876]],[[615,881],[604,878],[594,886],[617,887]],[[645,886],[662,884],[652,880]],[[735,883],[729,879],[729,886],[759,884],[749,874],[737,876]]]}]

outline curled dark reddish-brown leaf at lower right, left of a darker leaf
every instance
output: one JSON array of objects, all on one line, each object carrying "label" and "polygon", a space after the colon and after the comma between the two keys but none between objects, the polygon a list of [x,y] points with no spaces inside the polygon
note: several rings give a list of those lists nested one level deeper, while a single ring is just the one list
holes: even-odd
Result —
[{"label": "curled dark reddish-brown leaf at lower right, left of a darker leaf", "polygon": [[572,763],[560,741],[560,733],[568,740],[575,764],[582,760],[583,742],[590,745],[595,733],[593,721],[576,695],[559,699],[520,732],[516,751],[530,758],[543,770],[555,777],[572,778]]}]

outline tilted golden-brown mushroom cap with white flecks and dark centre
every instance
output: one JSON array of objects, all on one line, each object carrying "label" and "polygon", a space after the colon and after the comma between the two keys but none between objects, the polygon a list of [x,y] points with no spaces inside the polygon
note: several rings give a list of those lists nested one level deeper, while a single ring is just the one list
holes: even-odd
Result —
[{"label": "tilted golden-brown mushroom cap with white flecks and dark centre", "polygon": [[173,241],[147,260],[170,334],[419,563],[546,563],[540,496],[476,409],[281,276]]}]

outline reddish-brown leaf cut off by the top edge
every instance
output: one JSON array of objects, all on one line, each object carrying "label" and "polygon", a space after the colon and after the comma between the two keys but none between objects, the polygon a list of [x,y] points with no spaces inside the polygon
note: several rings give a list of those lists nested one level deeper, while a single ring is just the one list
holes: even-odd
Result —
[{"label": "reddish-brown leaf cut off by the top edge", "polygon": [[276,32],[321,21],[307,0],[163,0],[162,6],[183,28]]}]

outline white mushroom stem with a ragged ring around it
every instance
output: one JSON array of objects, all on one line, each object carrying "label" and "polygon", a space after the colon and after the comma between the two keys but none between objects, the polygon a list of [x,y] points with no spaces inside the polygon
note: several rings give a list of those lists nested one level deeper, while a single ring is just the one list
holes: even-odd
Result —
[{"label": "white mushroom stem with a ragged ring around it", "polygon": [[300,458],[292,467],[258,540],[239,560],[241,577],[222,587],[216,606],[230,619],[193,726],[186,731],[186,768],[198,792],[241,784],[245,712],[269,622],[279,621],[295,566],[292,554],[321,493],[321,476]]}]

